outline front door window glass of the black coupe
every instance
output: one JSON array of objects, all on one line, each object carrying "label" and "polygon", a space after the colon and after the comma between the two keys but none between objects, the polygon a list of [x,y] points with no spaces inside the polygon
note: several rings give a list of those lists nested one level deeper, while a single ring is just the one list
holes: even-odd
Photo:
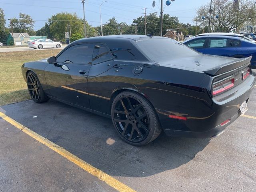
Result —
[{"label": "front door window glass of the black coupe", "polygon": [[92,64],[94,44],[73,45],[57,57],[57,63]]}]

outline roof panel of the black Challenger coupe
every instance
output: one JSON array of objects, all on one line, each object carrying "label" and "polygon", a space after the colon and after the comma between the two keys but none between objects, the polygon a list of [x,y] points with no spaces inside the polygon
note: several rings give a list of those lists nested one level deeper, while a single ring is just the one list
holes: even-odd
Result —
[{"label": "roof panel of the black Challenger coupe", "polygon": [[[109,40],[113,40],[115,38],[122,39],[122,40],[133,40],[133,41],[140,41],[146,39],[166,39],[167,37],[160,37],[160,36],[146,36],[146,35],[108,35],[108,36],[98,36],[98,37],[90,37],[90,38],[82,38],[80,40],[76,40],[76,43],[83,43],[83,42],[106,42]],[[170,39],[170,38],[168,38]]]}]

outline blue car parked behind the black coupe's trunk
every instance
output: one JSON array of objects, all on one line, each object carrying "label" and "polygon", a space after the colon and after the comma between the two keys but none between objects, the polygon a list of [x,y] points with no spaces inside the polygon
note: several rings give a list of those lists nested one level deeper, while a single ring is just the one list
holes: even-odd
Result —
[{"label": "blue car parked behind the black coupe's trunk", "polygon": [[203,54],[236,58],[252,56],[252,68],[256,68],[256,43],[235,36],[206,35],[186,40],[183,44]]}]

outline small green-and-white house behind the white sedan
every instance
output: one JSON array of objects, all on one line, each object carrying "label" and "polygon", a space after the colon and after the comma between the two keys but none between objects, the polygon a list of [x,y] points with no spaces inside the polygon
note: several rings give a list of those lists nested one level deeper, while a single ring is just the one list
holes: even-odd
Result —
[{"label": "small green-and-white house behind the white sedan", "polygon": [[12,33],[8,34],[8,38],[6,40],[7,45],[11,45],[11,42],[15,42],[15,45],[27,45],[28,41],[30,40],[30,36],[28,33]]}]

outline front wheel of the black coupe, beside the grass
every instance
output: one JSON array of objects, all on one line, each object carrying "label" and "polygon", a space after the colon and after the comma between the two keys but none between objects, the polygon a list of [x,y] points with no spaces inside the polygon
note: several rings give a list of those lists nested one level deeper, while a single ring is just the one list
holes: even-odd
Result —
[{"label": "front wheel of the black coupe, beside the grass", "polygon": [[27,74],[27,86],[28,86],[28,93],[34,102],[42,103],[49,100],[36,74],[32,71],[28,72]]}]

